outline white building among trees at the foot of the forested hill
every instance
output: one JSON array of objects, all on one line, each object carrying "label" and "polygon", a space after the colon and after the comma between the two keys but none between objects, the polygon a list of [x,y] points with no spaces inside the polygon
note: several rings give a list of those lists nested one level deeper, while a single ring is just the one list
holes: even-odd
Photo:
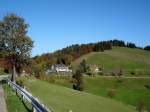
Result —
[{"label": "white building among trees at the foot of the forested hill", "polygon": [[71,70],[69,70],[69,68],[64,64],[52,65],[51,70],[55,72],[71,72]]}]

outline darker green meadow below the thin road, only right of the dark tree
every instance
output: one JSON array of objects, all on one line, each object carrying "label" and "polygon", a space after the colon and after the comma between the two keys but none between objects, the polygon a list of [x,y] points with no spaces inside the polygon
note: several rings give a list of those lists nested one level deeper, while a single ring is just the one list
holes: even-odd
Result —
[{"label": "darker green meadow below the thin road, only right of the dark tree", "polygon": [[144,87],[145,84],[150,84],[149,82],[150,79],[123,79],[123,82],[119,83],[115,78],[86,77],[85,91],[107,96],[108,90],[114,89],[114,99],[134,106],[143,100],[146,108],[150,111],[150,89]]}]

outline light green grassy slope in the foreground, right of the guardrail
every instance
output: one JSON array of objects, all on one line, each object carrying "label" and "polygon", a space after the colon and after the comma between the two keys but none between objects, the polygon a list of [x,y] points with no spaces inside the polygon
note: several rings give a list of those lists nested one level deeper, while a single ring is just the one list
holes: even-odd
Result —
[{"label": "light green grassy slope in the foreground, right of the guardrail", "polygon": [[[78,92],[36,79],[25,79],[27,89],[55,112],[134,112],[133,107],[104,97]],[[108,108],[109,107],[109,108]]]}]

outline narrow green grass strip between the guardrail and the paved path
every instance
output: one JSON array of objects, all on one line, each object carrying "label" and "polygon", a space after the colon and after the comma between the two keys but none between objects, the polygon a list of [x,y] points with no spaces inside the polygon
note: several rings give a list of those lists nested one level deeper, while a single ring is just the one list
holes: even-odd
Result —
[{"label": "narrow green grass strip between the guardrail and the paved path", "polygon": [[7,84],[3,84],[3,89],[8,112],[31,112]]}]

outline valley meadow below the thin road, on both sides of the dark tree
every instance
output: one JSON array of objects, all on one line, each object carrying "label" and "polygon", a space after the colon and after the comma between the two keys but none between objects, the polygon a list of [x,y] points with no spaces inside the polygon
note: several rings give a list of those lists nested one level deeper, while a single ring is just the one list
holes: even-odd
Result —
[{"label": "valley meadow below the thin road, on both sides of the dark tree", "polygon": [[[53,76],[53,83],[56,85],[72,88],[71,77]],[[150,85],[150,78],[104,78],[84,77],[84,91],[98,96],[109,97],[108,92],[114,91],[112,99],[124,102],[137,107],[140,101],[144,101],[146,109],[150,112],[150,89],[145,85]]]}]

